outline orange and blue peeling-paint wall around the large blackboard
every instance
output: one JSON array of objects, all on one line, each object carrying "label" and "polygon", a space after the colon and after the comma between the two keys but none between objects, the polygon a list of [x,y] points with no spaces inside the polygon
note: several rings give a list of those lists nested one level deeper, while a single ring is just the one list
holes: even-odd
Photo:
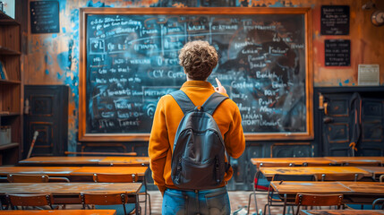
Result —
[{"label": "orange and blue peeling-paint wall around the large blackboard", "polygon": [[[30,2],[30,1],[29,1]],[[25,2],[25,4],[29,4]],[[59,0],[60,32],[28,36],[28,54],[23,58],[25,84],[65,84],[71,89],[69,101],[68,150],[75,151],[79,110],[79,9],[81,7],[311,7],[313,85],[357,86],[358,64],[380,64],[380,85],[384,86],[384,26],[371,24],[373,10],[363,10],[367,1],[358,0],[142,0],[142,1],[86,1]],[[350,34],[346,36],[320,35],[321,5],[350,6]],[[384,10],[384,1],[376,0]],[[29,18],[30,19],[30,18]],[[30,22],[29,22],[30,24]],[[30,30],[30,26],[28,28]],[[351,66],[326,67],[324,40],[350,39]]]}]

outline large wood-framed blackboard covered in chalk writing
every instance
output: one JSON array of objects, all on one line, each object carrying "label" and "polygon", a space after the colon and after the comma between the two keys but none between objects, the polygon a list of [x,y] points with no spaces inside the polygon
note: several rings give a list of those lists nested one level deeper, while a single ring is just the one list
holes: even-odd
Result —
[{"label": "large wood-framed blackboard covered in chalk writing", "polygon": [[[186,81],[178,51],[217,48],[247,140],[313,138],[311,9],[81,8],[79,139],[147,141],[158,99]],[[177,107],[175,107],[177,108]]]}]

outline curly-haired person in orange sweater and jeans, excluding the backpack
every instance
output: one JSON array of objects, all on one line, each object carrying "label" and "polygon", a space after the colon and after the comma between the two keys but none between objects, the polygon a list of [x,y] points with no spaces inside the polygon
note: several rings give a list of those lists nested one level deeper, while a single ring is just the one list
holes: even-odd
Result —
[{"label": "curly-haired person in orange sweater and jeans, excluding the backpack", "polygon": [[[215,91],[227,97],[226,89],[218,80],[216,88],[207,82],[218,64],[215,47],[201,40],[188,42],[180,50],[179,61],[187,77],[187,82],[183,83],[180,90],[185,92],[195,106],[201,106]],[[226,99],[212,116],[223,135],[227,154],[239,158],[245,149],[239,108],[233,100]],[[231,209],[226,184],[233,175],[232,168],[227,169],[223,182],[213,189],[183,190],[172,181],[172,150],[182,118],[183,111],[171,95],[159,99],[149,137],[149,159],[153,180],[163,194],[162,214],[229,215]]]}]

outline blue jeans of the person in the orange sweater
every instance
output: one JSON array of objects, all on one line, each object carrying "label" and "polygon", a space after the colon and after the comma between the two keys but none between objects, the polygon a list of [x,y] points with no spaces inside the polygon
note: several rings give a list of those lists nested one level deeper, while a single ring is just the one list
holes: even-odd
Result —
[{"label": "blue jeans of the person in the orange sweater", "polygon": [[163,215],[230,215],[226,186],[201,191],[181,191],[166,188]]}]

